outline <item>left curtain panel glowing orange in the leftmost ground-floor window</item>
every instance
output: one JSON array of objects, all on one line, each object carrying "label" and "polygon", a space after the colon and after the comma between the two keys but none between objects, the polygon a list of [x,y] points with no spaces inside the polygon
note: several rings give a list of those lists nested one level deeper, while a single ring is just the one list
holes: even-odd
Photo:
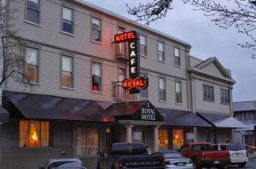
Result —
[{"label": "left curtain panel glowing orange in the leftmost ground-floor window", "polygon": [[29,121],[20,121],[20,147],[28,147]]}]

